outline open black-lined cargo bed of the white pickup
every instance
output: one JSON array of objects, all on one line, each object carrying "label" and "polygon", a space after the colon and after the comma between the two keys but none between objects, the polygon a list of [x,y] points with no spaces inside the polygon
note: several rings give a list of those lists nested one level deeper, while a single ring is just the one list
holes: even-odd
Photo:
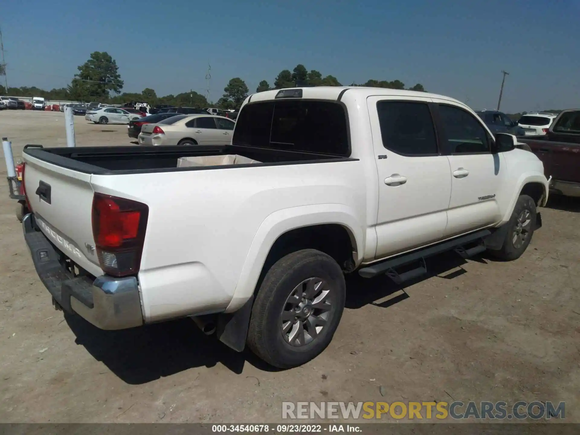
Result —
[{"label": "open black-lined cargo bed of the white pickup", "polygon": [[356,160],[338,155],[304,153],[300,151],[274,150],[246,146],[119,146],[119,147],[75,147],[75,148],[44,148],[39,145],[27,145],[24,154],[39,160],[72,169],[73,171],[92,173],[95,175],[113,175],[129,173],[198,171],[209,168],[224,168],[224,166],[189,166],[177,168],[180,157],[202,155],[238,154],[259,164],[235,165],[271,166],[314,162],[331,162]]}]

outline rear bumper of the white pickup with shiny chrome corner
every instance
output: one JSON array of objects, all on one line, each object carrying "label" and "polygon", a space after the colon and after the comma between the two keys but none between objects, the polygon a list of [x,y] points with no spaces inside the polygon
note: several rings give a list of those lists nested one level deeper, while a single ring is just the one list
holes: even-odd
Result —
[{"label": "rear bumper of the white pickup with shiny chrome corner", "polygon": [[58,305],[101,329],[126,329],[143,324],[135,277],[74,276],[67,260],[37,229],[31,213],[22,220],[24,240],[42,284]]}]

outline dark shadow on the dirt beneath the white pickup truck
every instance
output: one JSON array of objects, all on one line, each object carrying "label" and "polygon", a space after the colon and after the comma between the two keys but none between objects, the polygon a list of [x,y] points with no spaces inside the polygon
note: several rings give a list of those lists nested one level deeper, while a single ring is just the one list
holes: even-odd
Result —
[{"label": "dark shadow on the dirt beneath the white pickup truck", "polygon": [[[484,261],[480,258],[475,260]],[[463,264],[465,260],[453,252],[427,259],[427,275],[406,282],[405,287],[433,276],[452,280],[466,273],[461,268]],[[447,273],[457,267],[460,269]],[[394,284],[385,276],[365,279],[351,274],[346,278],[346,285],[346,307],[350,309],[368,304],[388,308],[409,298],[405,287]],[[380,302],[401,291],[400,295]],[[84,346],[96,360],[102,361],[129,384],[151,382],[190,368],[213,367],[218,362],[236,374],[241,374],[246,361],[263,371],[278,370],[248,349],[238,353],[214,336],[206,336],[189,318],[122,331],[103,331],[79,316],[65,315],[65,320],[77,336],[75,343]]]}]

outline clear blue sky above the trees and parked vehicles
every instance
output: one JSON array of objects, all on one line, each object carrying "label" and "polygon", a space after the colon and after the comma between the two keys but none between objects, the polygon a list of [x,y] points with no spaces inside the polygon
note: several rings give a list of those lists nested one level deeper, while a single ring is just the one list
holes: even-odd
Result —
[{"label": "clear blue sky above the trees and parked vehicles", "polygon": [[342,84],[417,82],[502,110],[580,106],[580,1],[5,0],[9,86],[60,88],[91,52],[117,61],[125,92],[253,92],[302,63]]}]

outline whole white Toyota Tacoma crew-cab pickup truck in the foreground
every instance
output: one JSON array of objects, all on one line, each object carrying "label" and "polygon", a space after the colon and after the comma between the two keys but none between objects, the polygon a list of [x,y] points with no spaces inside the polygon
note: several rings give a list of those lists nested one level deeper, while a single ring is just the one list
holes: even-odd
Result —
[{"label": "whole white Toyota Tacoma crew-cab pickup truck in the foreground", "polygon": [[[247,159],[177,167],[220,155]],[[23,157],[24,237],[57,309],[103,329],[189,316],[281,368],[331,341],[345,273],[403,282],[451,249],[517,259],[548,200],[542,162],[514,136],[406,90],[256,93],[228,146]]]}]

